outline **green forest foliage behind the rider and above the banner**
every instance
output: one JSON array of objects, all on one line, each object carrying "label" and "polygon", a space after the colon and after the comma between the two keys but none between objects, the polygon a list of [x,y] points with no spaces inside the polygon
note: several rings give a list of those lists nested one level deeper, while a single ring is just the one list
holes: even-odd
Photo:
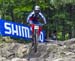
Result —
[{"label": "green forest foliage behind the rider and above the banner", "polygon": [[0,15],[6,20],[25,23],[27,15],[36,4],[47,18],[45,29],[49,32],[56,30],[60,40],[65,32],[64,39],[68,39],[69,32],[75,30],[75,0],[0,0]]}]

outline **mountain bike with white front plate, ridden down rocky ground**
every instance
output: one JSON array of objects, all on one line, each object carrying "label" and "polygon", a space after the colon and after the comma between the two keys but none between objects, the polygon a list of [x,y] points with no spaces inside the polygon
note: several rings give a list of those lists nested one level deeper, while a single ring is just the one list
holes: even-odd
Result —
[{"label": "mountain bike with white front plate, ridden down rocky ground", "polygon": [[40,26],[43,26],[43,24],[34,24],[34,33],[32,35],[32,46],[30,47],[28,60],[30,59],[31,52],[34,52],[34,53],[37,52],[37,46],[38,46],[39,36],[40,36],[38,35],[38,29]]}]

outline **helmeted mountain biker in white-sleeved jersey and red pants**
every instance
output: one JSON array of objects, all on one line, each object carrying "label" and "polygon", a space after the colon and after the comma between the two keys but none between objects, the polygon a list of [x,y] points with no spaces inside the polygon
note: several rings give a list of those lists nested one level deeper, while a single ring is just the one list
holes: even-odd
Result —
[{"label": "helmeted mountain biker in white-sleeved jersey and red pants", "polygon": [[[40,24],[39,17],[41,17],[42,20],[43,20],[43,22],[44,22],[44,24],[46,24],[46,18],[41,13],[40,7],[38,5],[36,5],[34,7],[34,10],[27,17],[27,23],[30,24],[31,29],[32,29],[32,33],[34,32],[34,26],[35,26],[35,24],[36,25]],[[39,29],[38,29],[38,35],[40,34],[41,30],[42,30],[42,27],[39,27]]]}]

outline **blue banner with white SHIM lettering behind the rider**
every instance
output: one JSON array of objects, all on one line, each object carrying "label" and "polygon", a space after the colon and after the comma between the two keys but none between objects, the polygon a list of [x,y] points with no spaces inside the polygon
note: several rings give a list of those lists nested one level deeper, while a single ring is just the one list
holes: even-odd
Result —
[{"label": "blue banner with white SHIM lettering behind the rider", "polygon": [[[2,34],[3,36],[31,39],[29,26],[1,19],[0,19],[0,34]],[[39,37],[39,41],[44,42],[44,40],[45,40],[45,32],[42,31]]]}]

